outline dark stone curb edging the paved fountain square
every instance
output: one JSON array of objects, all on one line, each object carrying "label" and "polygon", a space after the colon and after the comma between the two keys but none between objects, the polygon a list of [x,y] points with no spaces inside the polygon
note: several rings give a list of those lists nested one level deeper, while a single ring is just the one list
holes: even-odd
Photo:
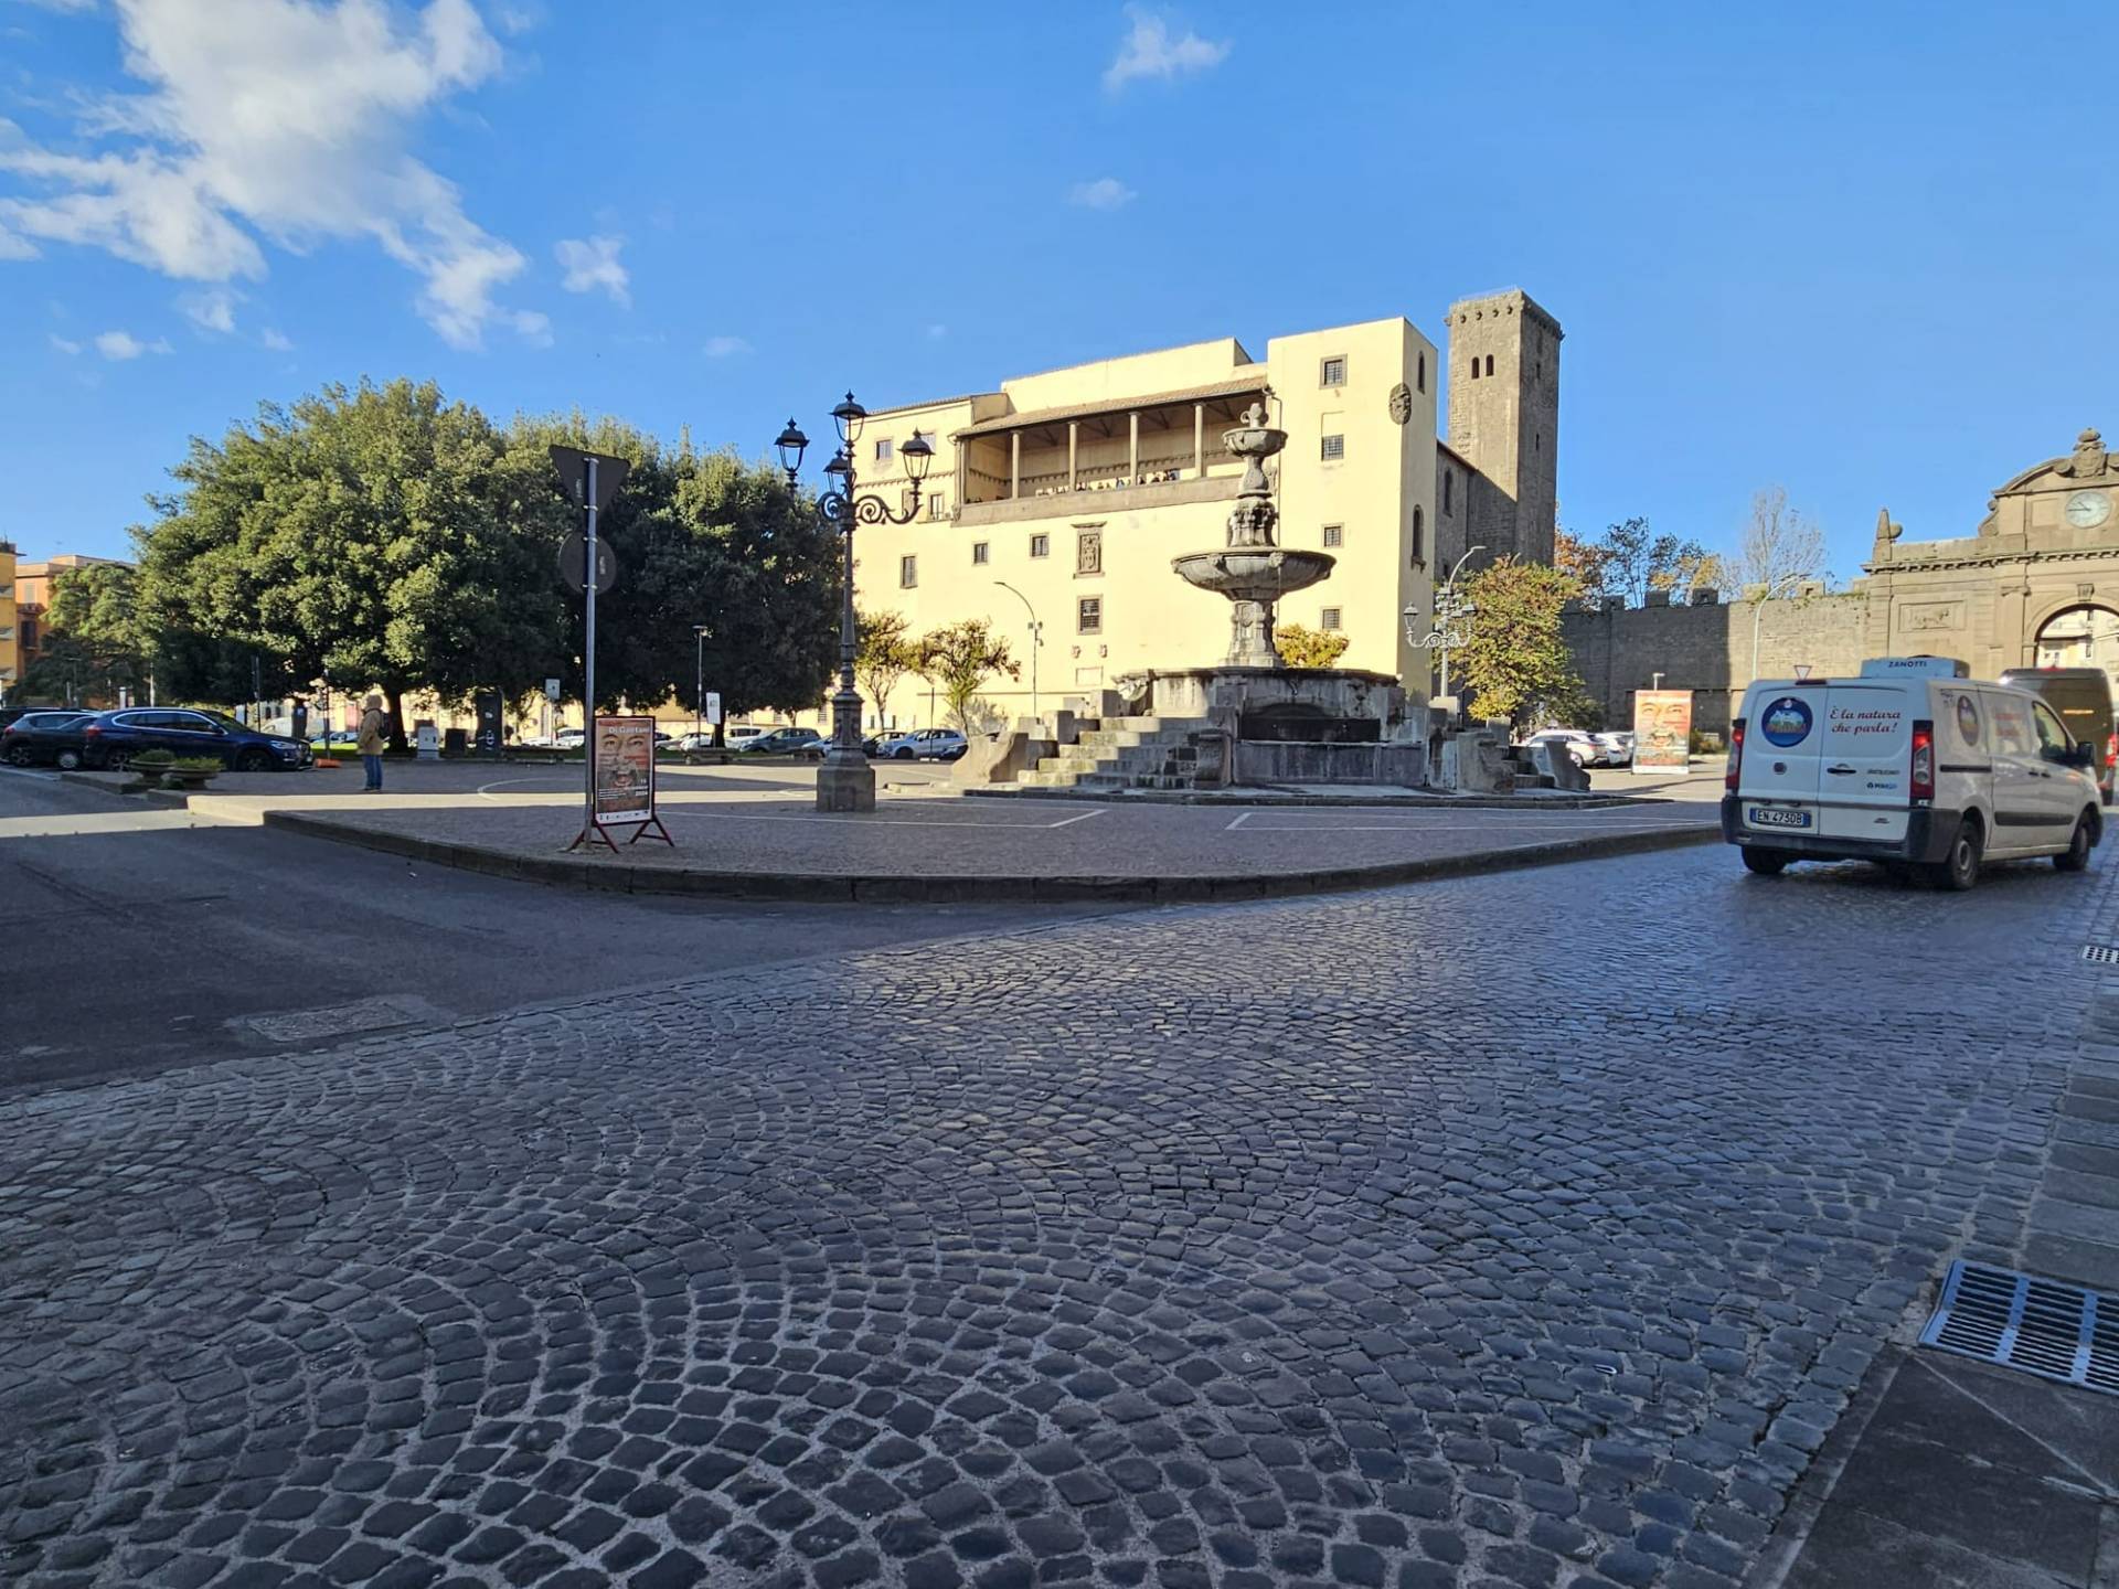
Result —
[{"label": "dark stone curb edging the paved fountain square", "polygon": [[1475,877],[1570,860],[1638,856],[1721,841],[1721,828],[1666,828],[1659,833],[1613,833],[1589,839],[1555,839],[1509,850],[1477,850],[1462,856],[1422,856],[1377,867],[1333,867],[1314,873],[1218,875],[1218,877],[892,877],[824,873],[672,871],[574,856],[517,856],[485,845],[441,843],[405,833],[350,828],[299,811],[265,811],[265,826],[311,839],[379,850],[432,867],[515,877],[555,888],[593,888],[615,894],[678,894],[691,898],[754,898],[816,905],[1212,905],[1229,900],[1290,898],[1299,894],[1343,894],[1360,888],[1390,888],[1437,877]]}]

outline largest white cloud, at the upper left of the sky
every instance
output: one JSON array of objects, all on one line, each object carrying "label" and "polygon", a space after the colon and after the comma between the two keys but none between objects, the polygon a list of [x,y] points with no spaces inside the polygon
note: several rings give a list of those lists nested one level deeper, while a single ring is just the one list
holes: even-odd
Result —
[{"label": "largest white cloud, at the upper left of the sky", "polygon": [[526,261],[407,153],[420,117],[500,68],[470,0],[413,17],[381,0],[119,0],[125,70],[59,153],[0,140],[0,235],[102,248],[191,282],[256,280],[261,239],[305,250],[371,237],[422,278],[420,314],[456,347],[502,314]]}]

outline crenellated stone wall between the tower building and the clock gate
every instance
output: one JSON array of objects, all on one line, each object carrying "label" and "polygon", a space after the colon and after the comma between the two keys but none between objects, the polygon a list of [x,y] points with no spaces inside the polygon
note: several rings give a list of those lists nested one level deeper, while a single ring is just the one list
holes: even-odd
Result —
[{"label": "crenellated stone wall between the tower building and the clock gate", "polygon": [[[1661,591],[1653,595],[1661,597]],[[1627,606],[1574,610],[1560,633],[1574,672],[1610,727],[1634,725],[1634,691],[1693,691],[1693,727],[1723,733],[1755,672],[1788,678],[1797,663],[1814,674],[1856,674],[1869,646],[1869,597],[1860,591],[1810,602],[1767,602],[1759,621],[1759,669],[1752,669],[1752,604]]]}]

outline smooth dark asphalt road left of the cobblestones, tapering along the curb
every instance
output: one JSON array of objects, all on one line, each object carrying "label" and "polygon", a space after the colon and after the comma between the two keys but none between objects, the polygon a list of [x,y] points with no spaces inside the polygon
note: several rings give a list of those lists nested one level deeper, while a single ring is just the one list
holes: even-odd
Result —
[{"label": "smooth dark asphalt road left of the cobblestones, tapering along the curb", "polygon": [[1110,909],[559,894],[178,822],[0,771],[0,1093]]}]

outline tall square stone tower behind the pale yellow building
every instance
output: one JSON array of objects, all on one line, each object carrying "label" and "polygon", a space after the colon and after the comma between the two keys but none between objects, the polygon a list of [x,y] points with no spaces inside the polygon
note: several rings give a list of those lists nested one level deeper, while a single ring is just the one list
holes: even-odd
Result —
[{"label": "tall square stone tower behind the pale yellow building", "polygon": [[1464,544],[1553,559],[1560,322],[1519,288],[1449,305],[1449,447],[1473,468]]}]

